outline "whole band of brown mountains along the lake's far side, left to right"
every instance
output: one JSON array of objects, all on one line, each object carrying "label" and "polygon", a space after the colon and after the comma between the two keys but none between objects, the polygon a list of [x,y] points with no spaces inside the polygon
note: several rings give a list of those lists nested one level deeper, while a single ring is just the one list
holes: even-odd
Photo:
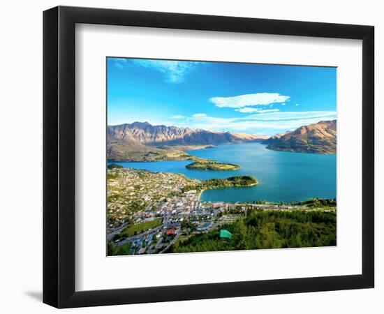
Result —
[{"label": "whole band of brown mountains along the lake's far side, left to right", "polygon": [[191,158],[185,152],[189,149],[244,142],[263,142],[267,149],[278,151],[334,154],[336,125],[336,120],[320,121],[268,137],[133,122],[108,126],[107,156],[109,160],[182,160]]}]

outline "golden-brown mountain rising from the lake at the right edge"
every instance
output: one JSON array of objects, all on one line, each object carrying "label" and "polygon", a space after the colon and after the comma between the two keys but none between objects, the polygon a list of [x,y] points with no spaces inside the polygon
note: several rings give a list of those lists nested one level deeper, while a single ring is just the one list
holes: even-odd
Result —
[{"label": "golden-brown mountain rising from the lake at the right edge", "polygon": [[267,149],[301,153],[335,154],[337,121],[320,121],[264,140]]}]

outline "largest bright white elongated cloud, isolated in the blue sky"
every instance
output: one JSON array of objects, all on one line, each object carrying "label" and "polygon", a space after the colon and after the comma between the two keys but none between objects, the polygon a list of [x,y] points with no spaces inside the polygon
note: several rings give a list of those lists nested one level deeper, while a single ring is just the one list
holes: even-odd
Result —
[{"label": "largest bright white elongated cloud, isolated in the blue sky", "polygon": [[216,107],[241,108],[255,105],[270,105],[272,103],[284,103],[290,96],[283,96],[278,93],[256,93],[245,94],[233,97],[212,97],[211,103]]}]

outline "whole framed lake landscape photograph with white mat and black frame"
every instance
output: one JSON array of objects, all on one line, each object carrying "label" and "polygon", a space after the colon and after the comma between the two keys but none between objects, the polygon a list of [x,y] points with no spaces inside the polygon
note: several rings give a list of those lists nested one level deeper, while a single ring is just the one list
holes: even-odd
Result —
[{"label": "whole framed lake landscape photograph with white mat and black frame", "polygon": [[374,27],[43,15],[43,301],[374,287]]}]

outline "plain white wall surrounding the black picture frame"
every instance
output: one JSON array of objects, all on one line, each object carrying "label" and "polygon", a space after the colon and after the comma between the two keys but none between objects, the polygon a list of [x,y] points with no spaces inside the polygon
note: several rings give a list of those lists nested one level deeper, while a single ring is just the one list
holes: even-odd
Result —
[{"label": "plain white wall surrounding the black picture frame", "polygon": [[[380,1],[7,1],[2,4],[1,23],[1,269],[0,308],[3,313],[53,313],[41,304],[42,264],[42,11],[58,4],[133,10],[235,15],[307,20],[376,27],[376,121],[383,117],[378,106],[383,98],[379,73],[383,73],[384,20]],[[376,160],[383,155],[376,123]],[[379,135],[379,133],[381,133]],[[379,151],[381,149],[381,152]],[[383,166],[376,167],[376,178]],[[380,182],[379,182],[380,181]],[[376,179],[376,191],[382,180]],[[378,186],[380,184],[380,186]],[[376,199],[376,265],[383,262],[383,214]],[[279,296],[169,302],[133,306],[71,309],[66,313],[382,313],[384,276],[376,270],[374,290],[351,290]]]}]

